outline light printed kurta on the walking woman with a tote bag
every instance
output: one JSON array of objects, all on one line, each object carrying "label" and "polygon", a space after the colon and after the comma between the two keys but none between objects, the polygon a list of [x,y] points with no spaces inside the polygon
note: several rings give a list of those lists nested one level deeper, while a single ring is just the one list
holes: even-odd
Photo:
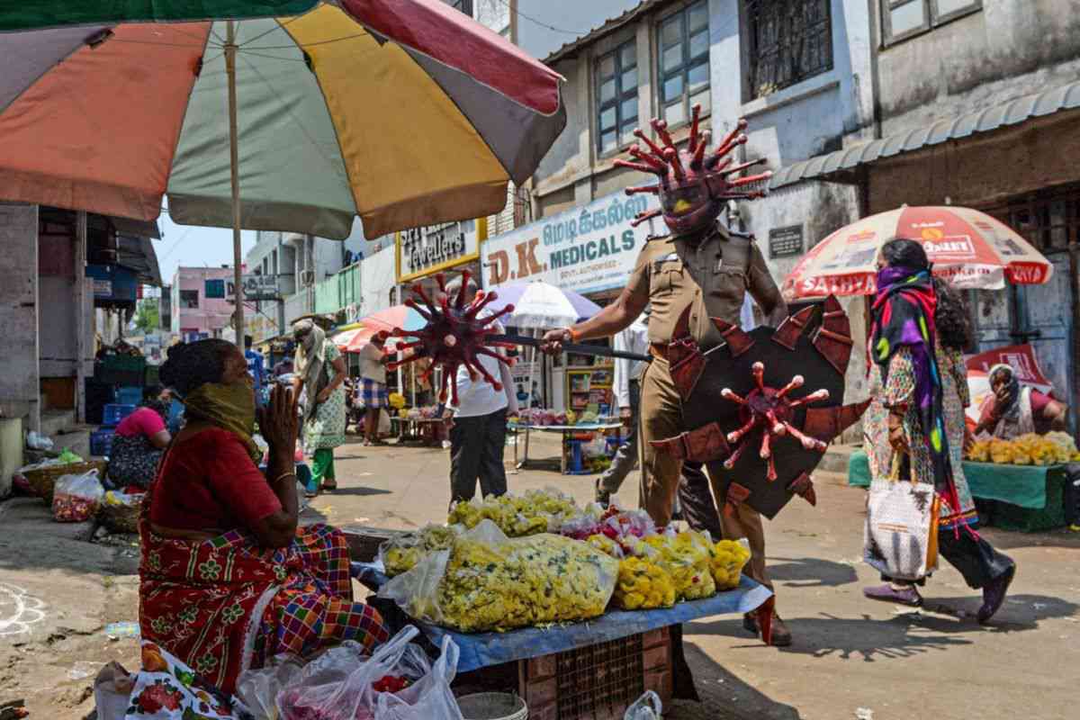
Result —
[{"label": "light printed kurta on the walking woman with a tote bag", "polygon": [[[963,475],[963,409],[971,404],[968,391],[967,368],[959,351],[935,348],[937,367],[941,368],[943,415],[945,417],[945,434],[948,438],[949,460],[953,465],[953,480],[956,484],[957,495],[960,498],[959,511],[950,508],[942,498],[941,527],[951,529],[957,522],[974,526],[978,521],[975,502],[968,489],[968,480]],[[892,462],[892,446],[889,445],[889,408],[894,405],[907,405],[904,416],[904,433],[907,435],[908,447],[912,448],[912,472],[922,483],[934,481],[933,464],[919,411],[913,398],[915,395],[915,369],[912,365],[912,354],[906,348],[901,348],[893,355],[889,365],[889,381],[881,384],[881,368],[870,364],[869,395],[870,406],[863,416],[863,447],[869,460],[870,477],[888,477]]]}]

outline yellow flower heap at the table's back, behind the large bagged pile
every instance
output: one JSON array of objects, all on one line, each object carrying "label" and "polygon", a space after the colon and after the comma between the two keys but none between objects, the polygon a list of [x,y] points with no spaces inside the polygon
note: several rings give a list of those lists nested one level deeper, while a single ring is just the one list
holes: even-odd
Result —
[{"label": "yellow flower heap at the table's back, behind the large bagged pile", "polygon": [[573,499],[557,490],[529,490],[524,495],[507,493],[483,500],[455,503],[447,522],[475,528],[491,520],[509,538],[555,530],[564,518],[578,512]]}]

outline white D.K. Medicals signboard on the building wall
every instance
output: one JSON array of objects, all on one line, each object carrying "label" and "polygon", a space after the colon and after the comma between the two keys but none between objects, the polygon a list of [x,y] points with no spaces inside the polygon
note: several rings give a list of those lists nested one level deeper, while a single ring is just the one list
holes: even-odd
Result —
[{"label": "white D.K. Medicals signboard on the building wall", "polygon": [[622,287],[650,232],[666,232],[659,218],[630,225],[656,207],[652,195],[620,191],[487,240],[484,287],[534,280],[582,294]]}]

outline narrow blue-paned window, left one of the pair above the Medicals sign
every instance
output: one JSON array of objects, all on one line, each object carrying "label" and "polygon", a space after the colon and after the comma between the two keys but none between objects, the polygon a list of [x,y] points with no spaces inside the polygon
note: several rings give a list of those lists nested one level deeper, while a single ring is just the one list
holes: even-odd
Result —
[{"label": "narrow blue-paned window, left one of the pair above the Medicals sign", "polygon": [[618,150],[637,127],[637,46],[624,42],[596,60],[596,137],[600,153]]}]

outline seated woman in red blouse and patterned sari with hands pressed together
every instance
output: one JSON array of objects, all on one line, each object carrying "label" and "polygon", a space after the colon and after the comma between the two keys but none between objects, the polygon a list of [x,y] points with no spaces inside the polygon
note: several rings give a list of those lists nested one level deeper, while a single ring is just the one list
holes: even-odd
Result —
[{"label": "seated woman in red blouse and patterned sari with hands pressed together", "polygon": [[203,679],[233,692],[241,673],[280,653],[310,656],[388,631],[353,601],[340,531],[297,526],[296,397],[275,385],[259,410],[243,352],[224,340],[176,345],[161,380],[187,424],[165,451],[143,505],[139,626]]}]

